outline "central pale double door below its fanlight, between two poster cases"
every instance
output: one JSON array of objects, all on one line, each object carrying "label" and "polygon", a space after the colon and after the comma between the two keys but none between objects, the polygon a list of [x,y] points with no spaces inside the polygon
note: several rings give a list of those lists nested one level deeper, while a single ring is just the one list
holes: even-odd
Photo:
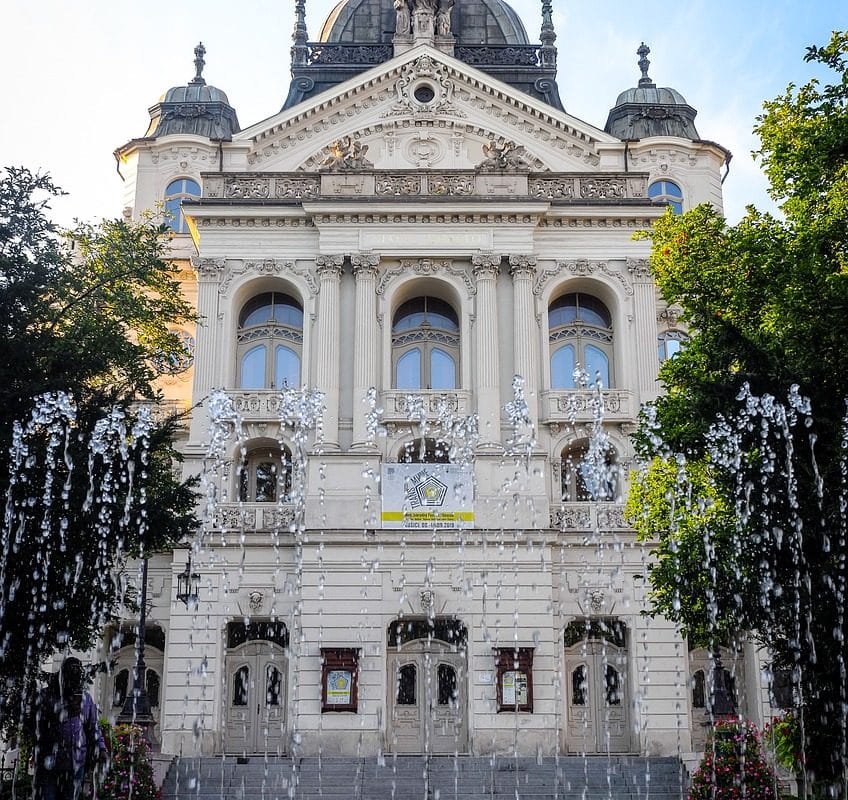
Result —
[{"label": "central pale double door below its fanlight, between two poster cases", "polygon": [[468,750],[465,656],[439,641],[390,653],[388,747],[394,753]]}]

